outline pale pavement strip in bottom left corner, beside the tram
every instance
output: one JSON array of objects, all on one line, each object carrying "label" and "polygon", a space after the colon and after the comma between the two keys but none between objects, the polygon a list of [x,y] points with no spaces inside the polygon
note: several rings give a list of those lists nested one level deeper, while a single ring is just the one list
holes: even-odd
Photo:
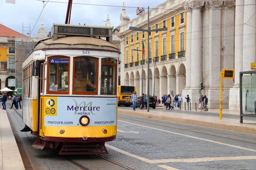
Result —
[{"label": "pale pavement strip in bottom left corner, beside the tram", "polygon": [[2,109],[0,109],[0,170],[25,170],[7,113]]}]

